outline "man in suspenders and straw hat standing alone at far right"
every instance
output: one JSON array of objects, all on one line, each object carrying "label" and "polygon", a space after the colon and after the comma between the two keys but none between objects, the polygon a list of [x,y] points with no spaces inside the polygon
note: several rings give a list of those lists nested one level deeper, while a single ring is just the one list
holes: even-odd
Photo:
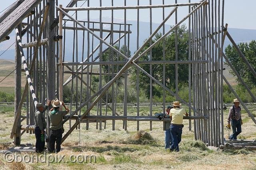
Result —
[{"label": "man in suspenders and straw hat standing alone at far right", "polygon": [[237,135],[242,132],[243,121],[241,118],[241,107],[239,106],[240,102],[238,99],[234,99],[234,105],[230,107],[228,113],[228,125],[227,127],[230,128],[230,121],[233,133],[228,137],[229,139],[237,139]]}]

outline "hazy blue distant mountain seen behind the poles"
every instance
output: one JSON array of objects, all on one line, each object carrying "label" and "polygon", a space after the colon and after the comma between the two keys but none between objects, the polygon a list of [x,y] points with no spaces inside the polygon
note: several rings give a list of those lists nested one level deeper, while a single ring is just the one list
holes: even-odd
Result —
[{"label": "hazy blue distant mountain seen behind the poles", "polygon": [[[90,21],[98,21],[98,19],[90,18]],[[104,17],[102,18],[102,22],[111,22],[110,17]],[[114,18],[115,23],[123,23],[123,19],[119,18]],[[132,24],[130,26],[130,30],[132,34],[130,34],[130,51],[131,54],[133,54],[137,47],[136,47],[136,42],[137,42],[137,21],[136,20],[127,20],[127,24]],[[72,25],[69,25],[72,26]],[[152,23],[152,32],[159,26],[157,23]],[[95,24],[95,28],[98,28],[98,25]],[[104,24],[103,29],[105,30],[110,30],[110,24]],[[128,26],[126,26],[126,29],[128,30]],[[166,32],[170,29],[170,25],[165,25],[165,30]],[[114,26],[114,30],[119,30],[119,26],[116,25]],[[122,26],[121,30],[124,30],[124,26]],[[162,32],[162,28],[160,29],[159,32]],[[236,43],[240,42],[250,42],[252,40],[256,40],[256,30],[248,30],[248,29],[238,29],[238,28],[228,28],[228,32],[234,39]],[[73,30],[67,30],[66,31],[66,45],[65,45],[65,61],[72,61],[72,56],[73,56]],[[99,32],[95,32],[96,35],[99,36]],[[107,32],[103,33],[103,38],[107,35]],[[7,49],[15,39],[14,32],[10,34],[10,40],[4,41],[0,43],[0,54]],[[114,40],[118,39],[119,34],[114,33]],[[139,22],[139,46],[142,45],[144,40],[146,40],[150,36],[150,23],[149,22]],[[79,31],[78,33],[78,61],[82,61],[82,39],[83,33],[82,31]],[[92,40],[90,36],[90,40]],[[126,37],[128,39],[128,35]],[[26,40],[26,37],[23,38]],[[87,39],[87,33],[85,33],[85,40]],[[110,37],[106,40],[106,42],[110,42]],[[96,47],[99,43],[99,40],[94,38],[94,47]],[[124,44],[124,38],[120,41],[120,45]],[[225,38],[224,42],[224,47],[226,47],[228,44],[230,44],[230,41],[228,38]],[[106,45],[103,45],[103,49],[106,48]],[[15,53],[15,45],[13,45],[10,49],[8,49],[2,56],[0,56],[0,59],[14,59],[14,53]],[[92,50],[92,47],[90,47],[90,51]],[[86,58],[87,55],[87,40],[84,42],[84,59]],[[94,57],[98,55],[98,51],[94,54]],[[26,56],[26,55],[25,55]],[[76,61],[76,51],[74,51],[74,61]]]}]

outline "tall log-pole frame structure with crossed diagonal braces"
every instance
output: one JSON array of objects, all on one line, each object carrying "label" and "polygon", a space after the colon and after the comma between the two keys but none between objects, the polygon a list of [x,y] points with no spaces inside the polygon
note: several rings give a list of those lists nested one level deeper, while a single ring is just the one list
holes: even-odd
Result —
[{"label": "tall log-pole frame structure with crossed diagonal braces", "polygon": [[[25,0],[26,1],[26,0]],[[24,2],[25,2],[24,1]],[[54,99],[58,97],[62,100],[63,86],[71,83],[72,94],[75,92],[78,94],[86,93],[86,101],[82,101],[78,95],[76,98],[70,97],[69,103],[76,103],[74,108],[70,104],[70,115],[64,117],[64,122],[69,121],[70,129],[67,130],[62,138],[62,142],[69,136],[69,134],[75,129],[79,128],[80,123],[86,123],[86,130],[89,128],[89,123],[96,123],[97,128],[102,130],[102,123],[106,128],[106,120],[112,120],[112,130],[115,130],[115,120],[123,120],[123,128],[127,130],[127,121],[137,121],[137,130],[140,129],[140,121],[149,121],[150,130],[152,130],[152,121],[159,121],[152,117],[152,87],[153,81],[156,82],[160,87],[163,88],[163,111],[165,111],[166,103],[166,92],[175,96],[177,100],[183,102],[189,107],[189,129],[192,128],[191,120],[194,121],[194,134],[195,140],[202,140],[210,146],[220,146],[224,144],[224,120],[223,120],[223,95],[222,85],[223,80],[228,84],[230,89],[232,87],[224,77],[223,71],[223,57],[228,62],[233,71],[231,63],[223,53],[224,38],[227,36],[232,40],[228,34],[227,26],[224,27],[224,0],[202,0],[200,2],[178,4],[175,0],[174,4],[169,4],[166,0],[162,0],[160,4],[152,5],[152,0],[148,0],[148,5],[140,5],[140,1],[137,0],[137,4],[134,6],[127,6],[126,0],[123,0],[123,6],[114,6],[113,0],[108,0],[109,6],[102,6],[102,0],[99,1],[98,7],[91,7],[90,0],[71,0],[70,3],[65,7],[58,6],[58,0],[41,0],[38,6],[35,8],[35,13],[27,17],[27,22],[22,23],[23,30],[19,31],[16,29],[17,34],[17,53],[16,53],[16,69],[17,73],[21,72],[21,68],[18,68],[21,61],[18,61],[19,55],[22,54],[22,60],[24,69],[28,78],[24,93],[22,97],[18,96],[20,93],[16,91],[16,109],[15,109],[15,121],[11,132],[11,138],[15,136],[15,143],[20,143],[20,136],[24,132],[32,133],[32,125],[34,125],[33,113],[35,112],[35,105],[37,102],[45,103],[47,99]],[[78,4],[85,5],[77,7]],[[17,5],[17,4],[16,4]],[[75,7],[74,7],[75,6]],[[178,21],[178,8],[188,8],[188,14],[184,15],[184,18]],[[162,22],[159,24],[156,30],[152,29],[152,8],[162,9]],[[170,8],[172,8],[170,10]],[[126,16],[130,9],[137,10],[137,30],[131,32]],[[149,10],[150,20],[150,35],[148,39],[141,45],[139,44],[140,39],[140,10]],[[90,21],[90,11],[99,12],[99,21]],[[111,22],[102,22],[102,11],[111,11]],[[114,23],[114,10],[122,10],[124,12],[124,23]],[[170,10],[170,13],[165,16],[166,10]],[[70,11],[75,11],[73,15]],[[88,20],[78,20],[78,11],[86,11]],[[68,19],[63,19],[66,16]],[[48,18],[47,18],[48,17]],[[165,24],[169,18],[175,18],[175,25],[166,30]],[[24,18],[22,18],[24,19]],[[19,20],[21,24],[21,20]],[[189,34],[189,48],[188,48],[188,59],[186,61],[180,61],[178,53],[175,54],[175,61],[166,61],[165,57],[165,38],[171,32],[175,32],[175,49],[178,51],[178,26],[184,21],[188,21],[188,34]],[[45,25],[44,25],[45,23]],[[68,25],[72,24],[73,27]],[[104,30],[103,24],[108,24],[110,30]],[[38,28],[40,28],[38,30]],[[118,29],[119,28],[119,29]],[[73,30],[73,56],[72,62],[66,62],[65,59],[65,42],[66,30]],[[82,44],[78,42],[78,32],[82,32]],[[99,32],[96,34],[95,32]],[[162,37],[156,42],[152,43],[152,38],[157,32],[162,32]],[[87,33],[87,34],[86,34]],[[106,34],[104,36],[104,34]],[[25,43],[21,43],[21,36],[26,35],[27,40]],[[8,35],[4,35],[8,36]],[[42,36],[42,38],[41,38]],[[137,51],[131,56],[128,56],[130,48],[130,38],[136,36],[136,47]],[[118,37],[114,40],[114,37]],[[54,40],[57,40],[54,41]],[[98,43],[95,46],[95,42]],[[152,47],[157,43],[163,42],[163,54],[161,61],[152,61]],[[232,41],[231,41],[232,42]],[[145,45],[149,43],[150,47],[142,51]],[[236,45],[234,41],[233,45]],[[120,44],[124,45],[124,53],[120,51]],[[118,49],[114,47],[118,45]],[[82,57],[78,57],[78,48],[82,46]],[[87,46],[87,47],[86,47]],[[24,56],[23,49],[26,49],[26,59]],[[102,61],[102,55],[110,50],[109,61]],[[239,48],[238,48],[239,50]],[[20,54],[19,54],[20,51]],[[96,55],[98,52],[98,55]],[[139,61],[140,57],[149,54],[150,61]],[[113,56],[118,55],[119,58],[124,58],[125,61],[114,61]],[[245,59],[242,53],[239,55]],[[33,56],[33,57],[32,57]],[[247,61],[245,59],[245,61]],[[30,69],[26,66],[26,62],[29,63]],[[251,68],[250,63],[246,62],[248,67]],[[149,64],[150,72],[146,72],[139,65]],[[162,64],[163,65],[163,80],[162,82],[156,80],[152,76],[152,65]],[[165,70],[166,64],[175,65],[176,78],[176,93],[166,87]],[[178,94],[178,67],[179,64],[186,64],[189,71],[189,102],[185,102],[180,98]],[[92,65],[99,65],[99,88],[98,91],[94,91],[91,87],[91,75]],[[102,76],[106,75],[102,71],[102,65],[108,65],[108,82],[106,85],[102,85]],[[117,65],[117,73],[114,73],[114,66]],[[122,67],[120,65],[123,65]],[[127,113],[127,84],[128,84],[128,68],[134,66],[137,70],[137,115],[129,116]],[[33,68],[34,67],[34,68]],[[64,71],[64,67],[68,68],[69,71]],[[110,71],[111,69],[111,71]],[[140,100],[139,100],[139,71],[150,77],[150,110],[149,116],[140,115]],[[251,71],[254,69],[251,68]],[[111,73],[110,73],[111,72]],[[66,82],[63,81],[63,75],[65,73],[71,73],[71,76]],[[242,78],[235,71],[240,81],[246,86]],[[255,71],[253,72],[255,73]],[[86,79],[83,78],[86,75]],[[16,87],[20,87],[20,74],[16,75]],[[123,113],[117,113],[116,111],[116,95],[118,91],[117,80],[120,76],[124,76],[124,110]],[[256,76],[256,73],[255,75]],[[30,79],[33,77],[33,83]],[[36,79],[34,78],[36,77]],[[78,86],[80,84],[80,87]],[[82,85],[86,85],[86,91],[82,91]],[[28,87],[30,92],[28,93]],[[109,91],[111,87],[111,91]],[[247,87],[247,86],[246,86]],[[79,89],[80,88],[80,89]],[[248,87],[246,88],[253,99],[256,101],[253,94],[250,92]],[[236,92],[232,89],[232,92],[236,95]],[[111,93],[112,103],[108,103],[102,99],[105,93]],[[106,95],[108,96],[108,95]],[[239,99],[239,97],[236,95]],[[21,126],[21,106],[26,100],[26,125]],[[193,101],[193,102],[192,102]],[[241,100],[240,100],[241,101]],[[97,104],[97,115],[91,115],[90,111]],[[104,104],[104,106],[103,106]],[[246,109],[250,117],[256,123],[254,117],[250,111],[246,108],[244,103],[241,104]],[[105,107],[105,108],[103,108]],[[85,108],[86,111],[81,114],[81,109]],[[111,109],[110,115],[108,109]],[[105,111],[105,113],[104,113]],[[24,117],[22,118],[24,120]],[[71,119],[76,120],[71,122]],[[164,121],[169,121],[164,119]],[[47,126],[49,132],[49,118],[47,116]],[[26,128],[29,127],[29,128]],[[21,133],[20,130],[23,130]]]}]

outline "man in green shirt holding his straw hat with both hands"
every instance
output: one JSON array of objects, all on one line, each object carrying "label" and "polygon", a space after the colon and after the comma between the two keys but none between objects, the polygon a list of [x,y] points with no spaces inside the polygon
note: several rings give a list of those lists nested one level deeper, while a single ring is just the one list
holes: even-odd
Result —
[{"label": "man in green shirt holding his straw hat with both hands", "polygon": [[[60,142],[62,139],[62,120],[63,116],[69,112],[68,107],[64,102],[59,101],[57,98],[52,100],[52,109],[49,111],[48,115],[50,117],[50,152],[60,152]],[[65,108],[65,111],[60,111],[60,106]],[[55,149],[56,142],[56,149]]]}]

